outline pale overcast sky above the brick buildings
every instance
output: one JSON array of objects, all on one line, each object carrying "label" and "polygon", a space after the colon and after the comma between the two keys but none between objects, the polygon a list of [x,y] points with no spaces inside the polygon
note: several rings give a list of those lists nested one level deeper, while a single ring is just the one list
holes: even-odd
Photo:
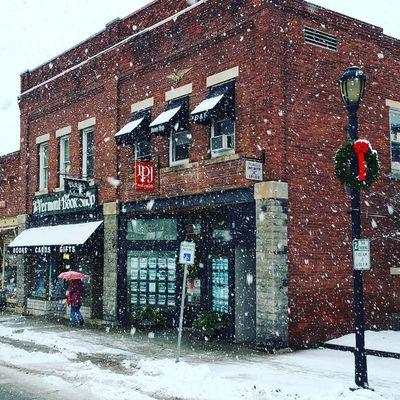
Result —
[{"label": "pale overcast sky above the brick buildings", "polygon": [[[171,0],[173,1],[173,0]],[[19,75],[53,58],[114,18],[149,0],[0,1],[0,155],[19,148]],[[400,38],[398,0],[314,0],[342,14],[378,25]]]}]

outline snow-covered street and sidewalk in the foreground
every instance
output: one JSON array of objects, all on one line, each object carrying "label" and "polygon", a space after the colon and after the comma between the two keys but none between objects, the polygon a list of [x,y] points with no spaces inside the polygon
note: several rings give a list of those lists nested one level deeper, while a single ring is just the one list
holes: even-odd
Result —
[{"label": "snow-covered street and sidewalk in the foreground", "polygon": [[[348,340],[343,337],[340,344],[351,345]],[[367,346],[369,342],[394,351],[400,332],[368,332]],[[391,358],[368,357],[374,391],[354,392],[349,390],[354,386],[354,357],[348,352],[316,349],[267,355],[186,344],[182,359],[175,364],[174,342],[162,335],[71,330],[0,315],[0,384],[20,385],[42,396],[32,398],[400,400],[400,360]]]}]

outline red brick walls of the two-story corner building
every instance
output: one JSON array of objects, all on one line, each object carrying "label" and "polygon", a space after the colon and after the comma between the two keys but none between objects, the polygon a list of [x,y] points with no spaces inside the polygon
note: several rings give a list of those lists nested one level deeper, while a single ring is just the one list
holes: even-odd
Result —
[{"label": "red brick walls of the two-story corner building", "polygon": [[[21,77],[22,91],[78,65],[137,31],[173,15],[185,1],[156,1],[57,59]],[[335,35],[337,52],[305,45],[303,28]],[[132,189],[132,149],[115,145],[114,134],[129,119],[130,106],[154,97],[153,117],[165,109],[174,70],[192,68],[178,86],[192,83],[190,109],[207,94],[206,78],[239,66],[236,81],[236,156],[210,160],[209,130],[191,125],[190,164],[168,166],[168,140],[154,137],[153,161],[160,161],[160,186],[149,197],[241,188],[245,157],[266,151],[265,180],[288,183],[289,338],[292,345],[317,342],[352,328],[349,196],[332,175],[332,158],[344,143],[347,113],[337,79],[349,65],[365,69],[368,84],[360,109],[360,136],[379,151],[382,172],[363,211],[382,214],[377,229],[363,214],[372,244],[373,268],[365,274],[369,327],[385,326],[399,312],[395,242],[382,232],[395,229],[385,211],[397,181],[389,179],[389,125],[385,99],[400,101],[399,42],[379,28],[303,1],[211,0],[113,51],[58,77],[21,98],[23,198],[30,212],[38,186],[35,138],[50,133],[50,191],[58,185],[55,131],[71,125],[72,174],[80,175],[78,122],[96,117],[95,175],[100,202],[146,196]],[[388,79],[387,77],[390,77]],[[390,84],[388,84],[390,81]],[[176,86],[175,86],[176,87]],[[107,177],[117,177],[115,188]],[[378,193],[385,195],[382,197]],[[367,205],[368,204],[368,205]],[[397,289],[395,287],[397,285]],[[384,295],[382,295],[384,293]]]}]

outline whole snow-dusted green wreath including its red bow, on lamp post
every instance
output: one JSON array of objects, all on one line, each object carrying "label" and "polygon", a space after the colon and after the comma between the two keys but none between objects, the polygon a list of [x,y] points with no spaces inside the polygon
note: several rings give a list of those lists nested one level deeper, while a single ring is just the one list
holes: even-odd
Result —
[{"label": "whole snow-dusted green wreath including its red bow, on lamp post", "polygon": [[[351,162],[356,158],[358,174],[351,170]],[[379,159],[368,140],[359,139],[340,146],[335,154],[334,174],[341,183],[356,190],[368,190],[379,173]]]}]

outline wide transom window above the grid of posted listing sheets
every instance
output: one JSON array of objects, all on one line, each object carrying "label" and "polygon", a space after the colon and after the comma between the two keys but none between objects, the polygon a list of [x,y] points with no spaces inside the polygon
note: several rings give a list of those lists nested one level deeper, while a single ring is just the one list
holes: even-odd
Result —
[{"label": "wide transom window above the grid of posted listing sheets", "polygon": [[128,240],[177,240],[176,220],[132,219],[128,221]]}]

